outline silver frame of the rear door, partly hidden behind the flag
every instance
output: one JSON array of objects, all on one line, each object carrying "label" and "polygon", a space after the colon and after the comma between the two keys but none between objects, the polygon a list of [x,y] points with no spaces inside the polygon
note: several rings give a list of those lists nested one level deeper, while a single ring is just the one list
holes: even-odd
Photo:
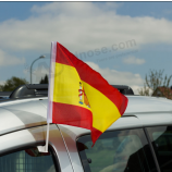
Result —
[{"label": "silver frame of the rear door, partly hidden behind the flag", "polygon": [[[135,116],[127,116],[119,119],[115,124],[112,124],[107,130],[107,132],[112,130],[124,130],[133,127],[142,127],[142,123]],[[76,139],[82,135],[90,134],[90,131],[67,125],[59,125],[59,128],[66,144],[74,170],[76,172],[82,172],[83,167],[77,152]]]}]

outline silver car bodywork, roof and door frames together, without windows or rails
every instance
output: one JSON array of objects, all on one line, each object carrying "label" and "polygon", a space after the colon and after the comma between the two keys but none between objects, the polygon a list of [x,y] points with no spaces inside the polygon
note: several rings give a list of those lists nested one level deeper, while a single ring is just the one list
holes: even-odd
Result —
[{"label": "silver car bodywork, roof and door frames together, without windows or rails", "polygon": [[[142,96],[127,96],[127,98],[128,106],[125,113],[106,132],[172,123],[171,100]],[[46,97],[0,103],[0,153],[27,144],[45,143],[47,105]],[[84,171],[76,140],[86,134],[90,134],[90,131],[61,124],[50,125],[49,143],[56,149],[62,171]],[[13,142],[10,142],[11,139]]]}]

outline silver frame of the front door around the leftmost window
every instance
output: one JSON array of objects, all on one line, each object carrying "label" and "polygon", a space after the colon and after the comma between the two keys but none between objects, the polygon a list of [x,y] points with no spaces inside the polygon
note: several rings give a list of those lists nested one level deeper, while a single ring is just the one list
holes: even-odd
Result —
[{"label": "silver frame of the front door around the leftmost window", "polygon": [[[32,127],[0,136],[0,155],[33,145],[44,145],[47,126]],[[63,138],[56,124],[50,125],[49,144],[53,147],[60,163],[61,171],[73,172],[71,160]]]}]

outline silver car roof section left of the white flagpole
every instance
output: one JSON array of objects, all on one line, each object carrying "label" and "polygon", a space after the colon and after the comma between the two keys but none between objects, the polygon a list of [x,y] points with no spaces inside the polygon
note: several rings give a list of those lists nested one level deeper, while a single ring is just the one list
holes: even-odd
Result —
[{"label": "silver car roof section left of the white flagpole", "polygon": [[47,109],[40,100],[3,102],[0,106],[0,135],[26,127],[47,124]]}]

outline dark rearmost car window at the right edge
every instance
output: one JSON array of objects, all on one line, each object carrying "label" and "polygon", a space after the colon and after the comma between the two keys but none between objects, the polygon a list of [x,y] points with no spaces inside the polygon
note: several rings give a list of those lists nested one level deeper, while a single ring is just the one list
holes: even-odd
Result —
[{"label": "dark rearmost car window at the right edge", "polygon": [[147,130],[161,171],[172,171],[172,126],[148,127]]}]

